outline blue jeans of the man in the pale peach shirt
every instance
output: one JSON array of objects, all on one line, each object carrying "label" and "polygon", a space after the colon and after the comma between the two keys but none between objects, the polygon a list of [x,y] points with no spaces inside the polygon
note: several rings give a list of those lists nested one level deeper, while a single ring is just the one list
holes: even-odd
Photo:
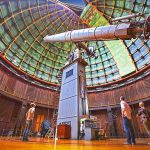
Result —
[{"label": "blue jeans of the man in the pale peach shirt", "polygon": [[123,118],[123,125],[124,125],[124,130],[126,132],[126,138],[127,138],[127,143],[135,143],[135,135],[134,135],[134,130],[131,124],[131,120],[128,119],[127,117]]}]

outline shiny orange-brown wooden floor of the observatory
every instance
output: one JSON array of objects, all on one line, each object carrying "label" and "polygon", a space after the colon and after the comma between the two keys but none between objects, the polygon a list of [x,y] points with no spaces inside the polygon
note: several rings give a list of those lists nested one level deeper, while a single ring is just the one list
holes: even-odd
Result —
[{"label": "shiny orange-brown wooden floor of the observatory", "polygon": [[20,138],[0,138],[0,150],[150,150],[148,139],[137,139],[137,144],[125,145],[125,139],[107,139],[97,141],[57,140],[30,138],[22,142]]}]

